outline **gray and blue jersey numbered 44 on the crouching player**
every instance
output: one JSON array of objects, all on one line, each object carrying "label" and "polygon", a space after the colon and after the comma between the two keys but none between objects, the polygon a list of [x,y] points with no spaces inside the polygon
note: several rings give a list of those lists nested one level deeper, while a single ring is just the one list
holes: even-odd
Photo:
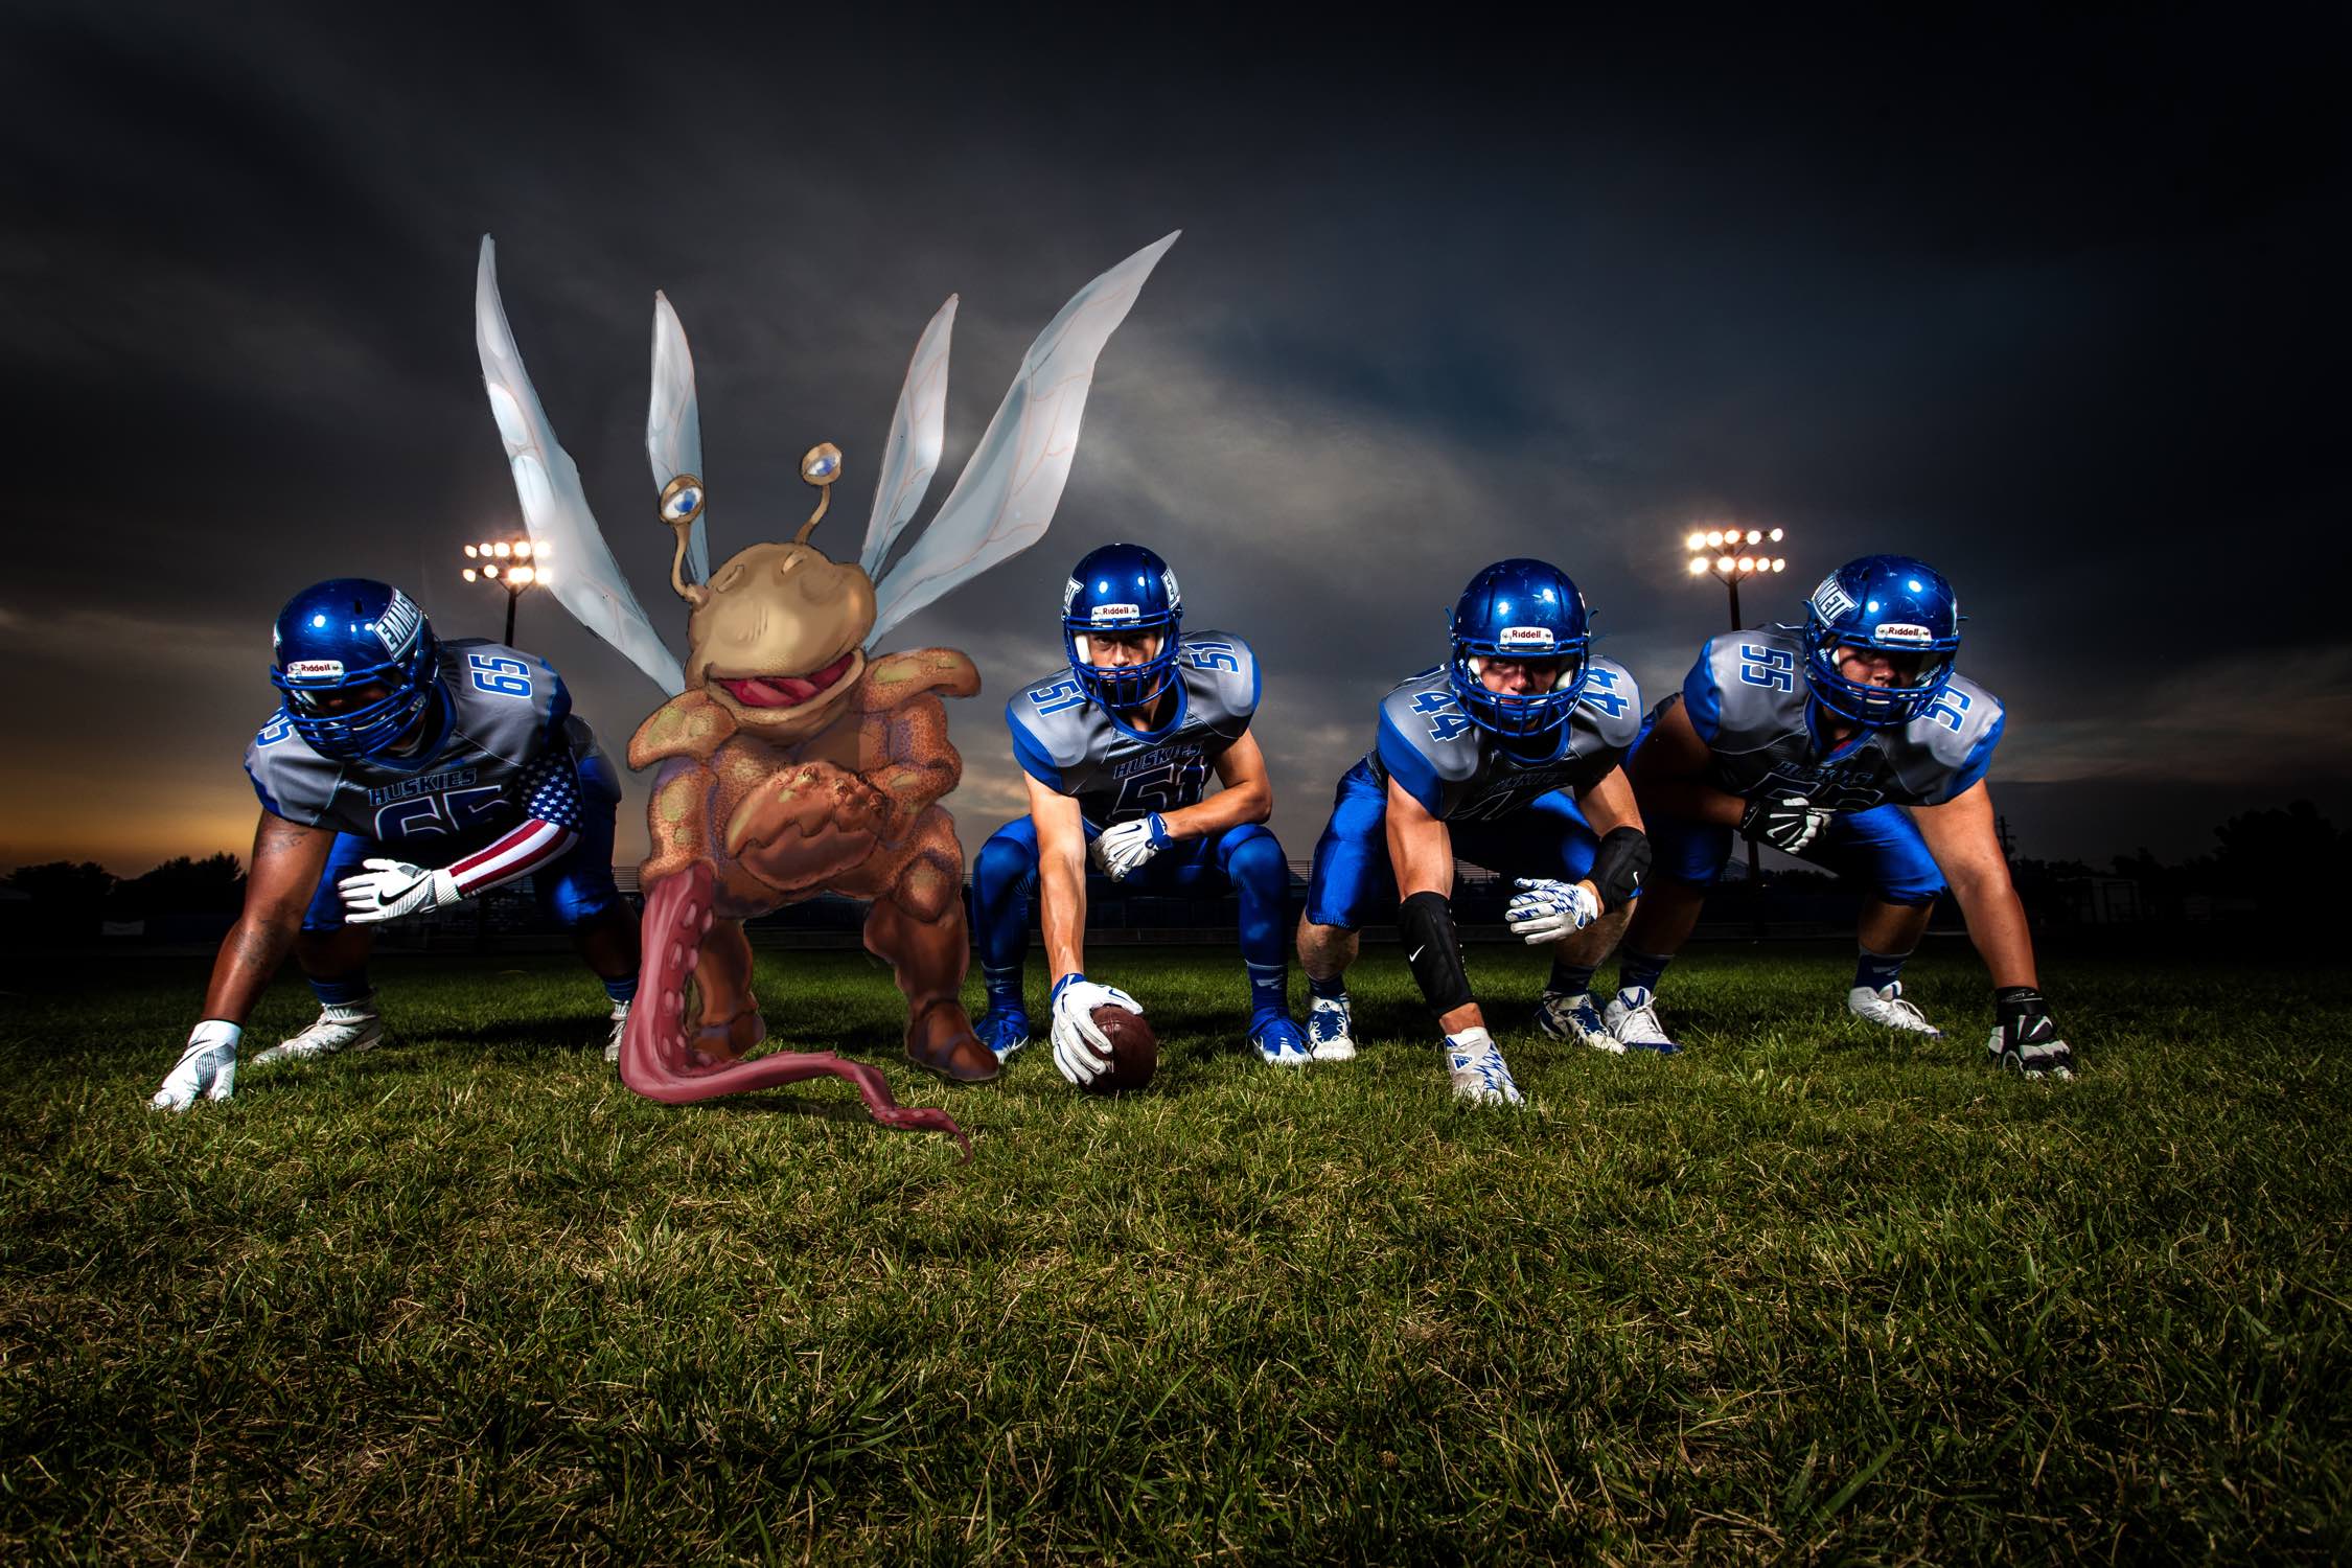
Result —
[{"label": "gray and blue jersey numbered 44 on the crouching player", "polygon": [[1585,661],[1585,693],[1545,757],[1519,757],[1463,712],[1444,665],[1409,675],[1381,698],[1381,738],[1362,766],[1404,785],[1444,823],[1496,820],[1552,790],[1609,776],[1642,731],[1642,689],[1613,658]]}]

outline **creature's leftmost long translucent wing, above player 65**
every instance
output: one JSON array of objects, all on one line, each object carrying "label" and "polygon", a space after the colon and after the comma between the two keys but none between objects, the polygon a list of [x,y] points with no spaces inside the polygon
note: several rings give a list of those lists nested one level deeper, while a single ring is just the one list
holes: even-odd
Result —
[{"label": "creature's leftmost long translucent wing, above player 65", "polygon": [[489,411],[506,442],[506,461],[515,468],[515,494],[522,496],[522,520],[532,529],[532,548],[546,567],[555,599],[581,625],[628,654],[656,686],[677,696],[687,689],[684,670],[644,618],[637,595],[604,548],[604,534],[588,510],[581,470],[555,440],[522,353],[499,303],[499,252],[482,235],[482,270],[473,292],[473,346],[482,355],[482,381],[489,388]]}]

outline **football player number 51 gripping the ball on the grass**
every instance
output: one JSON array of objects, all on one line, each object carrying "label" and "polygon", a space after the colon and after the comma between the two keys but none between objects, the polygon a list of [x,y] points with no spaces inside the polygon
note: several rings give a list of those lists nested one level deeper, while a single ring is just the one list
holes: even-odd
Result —
[{"label": "football player number 51 gripping the ball on the grass", "polygon": [[[1089,1084],[1110,1065],[1094,1023],[1103,1004],[1143,1009],[1087,980],[1087,863],[1112,882],[1242,905],[1249,1044],[1277,1067],[1308,1063],[1289,1016],[1282,896],[1289,863],[1265,830],[1275,792],[1249,733],[1258,661],[1232,632],[1183,630],[1176,574],[1143,545],[1103,545],[1061,595],[1065,670],[1014,693],[1004,722],[1030,813],[1000,827],[971,863],[988,1013],[981,1039],[1004,1060],[1028,1044],[1021,964],[1030,898],[1042,896],[1054,969],[1054,1065]],[[1209,773],[1223,790],[1204,797]]]}]

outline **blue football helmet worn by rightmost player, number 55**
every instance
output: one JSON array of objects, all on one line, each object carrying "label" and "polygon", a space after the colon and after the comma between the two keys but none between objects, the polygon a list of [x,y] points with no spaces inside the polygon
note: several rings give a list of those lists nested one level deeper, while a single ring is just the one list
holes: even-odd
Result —
[{"label": "blue football helmet worn by rightmost player, number 55", "polygon": [[[1893,686],[1846,679],[1837,649],[1893,656]],[[1813,701],[1853,724],[1910,724],[1943,696],[1959,651],[1959,595],[1910,555],[1851,559],[1804,602],[1804,672]]]}]

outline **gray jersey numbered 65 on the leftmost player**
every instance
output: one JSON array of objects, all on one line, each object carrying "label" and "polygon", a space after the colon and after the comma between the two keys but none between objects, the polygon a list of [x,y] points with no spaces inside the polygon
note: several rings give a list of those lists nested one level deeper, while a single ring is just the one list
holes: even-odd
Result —
[{"label": "gray jersey numbered 65 on the leftmost player", "polygon": [[[261,809],[306,827],[334,827],[379,844],[482,839],[527,816],[581,825],[581,776],[612,771],[595,733],[572,715],[572,693],[536,654],[496,642],[440,644],[442,696],[426,724],[437,738],[414,759],[313,752],[285,710],[245,748]],[[612,788],[602,783],[600,788]]]}]

